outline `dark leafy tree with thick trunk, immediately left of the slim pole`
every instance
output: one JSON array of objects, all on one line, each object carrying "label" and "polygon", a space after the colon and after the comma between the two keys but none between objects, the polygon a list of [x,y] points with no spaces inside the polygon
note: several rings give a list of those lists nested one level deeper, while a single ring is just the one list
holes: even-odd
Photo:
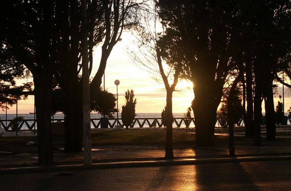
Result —
[{"label": "dark leafy tree with thick trunk, immediately left of the slim pole", "polygon": [[64,96],[65,151],[82,150],[82,86],[78,76],[81,54],[81,1],[56,1],[53,31],[57,57],[54,77]]}]

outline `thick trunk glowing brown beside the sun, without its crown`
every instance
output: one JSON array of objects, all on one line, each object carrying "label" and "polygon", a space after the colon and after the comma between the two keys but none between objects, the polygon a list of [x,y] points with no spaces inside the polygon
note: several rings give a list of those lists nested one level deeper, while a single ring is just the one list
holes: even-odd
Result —
[{"label": "thick trunk glowing brown beside the sun, without its crown", "polygon": [[217,71],[218,57],[205,56],[204,59],[205,64],[195,67],[196,64],[193,63],[191,68],[195,95],[191,107],[195,117],[196,146],[214,145],[212,136],[225,79],[221,68]]}]

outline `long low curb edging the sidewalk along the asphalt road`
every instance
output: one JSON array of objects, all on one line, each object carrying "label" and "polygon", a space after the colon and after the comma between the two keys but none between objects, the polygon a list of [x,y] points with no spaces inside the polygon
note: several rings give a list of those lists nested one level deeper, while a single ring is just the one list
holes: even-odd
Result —
[{"label": "long low curb edging the sidewalk along the asphalt road", "polygon": [[0,174],[42,173],[42,172],[56,172],[56,171],[76,171],[76,170],[94,170],[94,169],[111,169],[111,168],[133,168],[133,167],[154,167],[154,166],[169,166],[169,165],[194,165],[194,164],[206,164],[206,163],[280,161],[280,160],[291,160],[291,155],[200,158],[200,159],[173,159],[173,160],[158,160],[158,161],[150,160],[150,161],[107,162],[107,163],[94,163],[94,164],[89,165],[89,166],[85,166],[83,164],[77,164],[77,165],[2,168],[2,169],[0,169]]}]

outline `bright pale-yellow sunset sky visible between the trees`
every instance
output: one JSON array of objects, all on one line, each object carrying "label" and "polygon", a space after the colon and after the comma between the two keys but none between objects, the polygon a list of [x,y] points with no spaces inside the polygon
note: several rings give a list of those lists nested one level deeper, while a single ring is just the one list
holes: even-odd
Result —
[{"label": "bright pale-yellow sunset sky visible between the trees", "polygon": [[[122,105],[125,104],[125,92],[133,89],[135,98],[137,98],[136,113],[161,113],[166,104],[166,91],[164,84],[156,82],[153,75],[145,71],[145,67],[134,63],[128,52],[132,48],[136,48],[135,42],[130,33],[124,33],[122,41],[118,42],[113,48],[105,69],[105,89],[116,94],[117,89],[114,84],[115,80],[120,81],[118,86],[118,107],[121,112]],[[101,47],[96,47],[93,52],[93,69],[91,77],[97,72],[101,57]],[[154,76],[158,77],[158,76]],[[28,79],[28,81],[32,79]],[[102,78],[103,80],[103,78]],[[102,82],[103,86],[103,82]],[[173,93],[173,113],[184,113],[191,106],[194,98],[192,83],[185,80],[177,84],[177,92]],[[277,94],[274,95],[274,107],[279,100],[279,95],[282,95],[282,87],[277,89]],[[285,112],[291,107],[291,94],[285,88]],[[34,111],[34,96],[29,96],[26,100],[18,102],[18,113],[29,113]],[[262,105],[264,112],[264,104]],[[5,111],[0,110],[0,114]],[[16,113],[16,105],[7,110],[8,114]]]}]

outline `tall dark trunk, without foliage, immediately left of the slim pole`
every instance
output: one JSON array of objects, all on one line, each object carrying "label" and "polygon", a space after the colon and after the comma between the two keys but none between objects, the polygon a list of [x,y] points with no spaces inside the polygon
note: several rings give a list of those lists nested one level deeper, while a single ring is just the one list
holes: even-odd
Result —
[{"label": "tall dark trunk, without foliage, immediately left of the slim pole", "polygon": [[[82,96],[81,83],[78,81],[78,54],[79,54],[79,7],[78,2],[70,1],[70,17],[71,24],[70,31],[66,33],[68,40],[66,58],[63,64],[66,65],[66,70],[62,71],[64,87],[63,90],[66,95],[65,108],[65,151],[76,152],[82,150]],[[70,49],[71,48],[71,49]],[[61,66],[62,67],[62,66]]]}]

